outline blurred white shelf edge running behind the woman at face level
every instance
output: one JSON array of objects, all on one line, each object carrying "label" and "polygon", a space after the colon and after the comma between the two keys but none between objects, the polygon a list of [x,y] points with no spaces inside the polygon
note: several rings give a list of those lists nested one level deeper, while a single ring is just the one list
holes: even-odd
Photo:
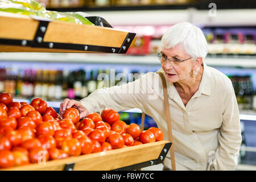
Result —
[{"label": "blurred white shelf edge running behind the woman at face level", "polygon": [[[0,53],[0,61],[92,63],[92,64],[141,64],[159,65],[156,55],[106,55],[84,53]],[[256,68],[256,56],[207,57],[209,66]]]}]

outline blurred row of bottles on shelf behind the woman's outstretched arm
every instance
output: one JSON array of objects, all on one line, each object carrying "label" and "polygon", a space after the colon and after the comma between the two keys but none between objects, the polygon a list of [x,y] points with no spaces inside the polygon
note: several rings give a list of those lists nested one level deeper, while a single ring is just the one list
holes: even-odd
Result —
[{"label": "blurred row of bottles on shelf behind the woman's outstretched arm", "polygon": [[[118,75],[119,74],[119,75]],[[9,92],[15,97],[40,97],[45,100],[80,100],[96,89],[126,84],[139,78],[141,73],[125,69],[43,70],[0,68],[0,93]]]}]

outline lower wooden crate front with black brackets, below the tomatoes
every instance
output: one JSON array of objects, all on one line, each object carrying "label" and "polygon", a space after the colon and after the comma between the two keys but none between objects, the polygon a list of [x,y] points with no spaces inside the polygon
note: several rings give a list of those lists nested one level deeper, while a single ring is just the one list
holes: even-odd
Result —
[{"label": "lower wooden crate front with black brackets, below the tomatoes", "polygon": [[62,171],[62,170],[134,170],[163,162],[171,147],[170,142],[162,140],[138,146],[119,148],[66,159],[47,161],[45,164],[28,164],[26,166],[3,168],[10,171]]}]

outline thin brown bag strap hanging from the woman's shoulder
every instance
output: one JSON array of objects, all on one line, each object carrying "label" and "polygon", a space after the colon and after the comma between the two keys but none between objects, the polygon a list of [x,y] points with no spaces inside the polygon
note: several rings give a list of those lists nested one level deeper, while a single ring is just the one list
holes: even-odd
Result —
[{"label": "thin brown bag strap hanging from the woman's shoulder", "polygon": [[[170,105],[169,105],[168,93],[167,93],[167,84],[166,84],[166,79],[164,78],[163,73],[162,72],[157,72],[157,73],[160,75],[162,79],[163,93],[164,93],[164,111],[166,113],[168,140],[172,143],[170,148],[171,166],[172,166],[172,171],[176,171],[175,156],[174,156],[174,142],[172,140],[172,125],[171,125]],[[145,113],[142,113],[142,121],[141,121],[142,131],[144,129],[144,119],[145,119]]]}]

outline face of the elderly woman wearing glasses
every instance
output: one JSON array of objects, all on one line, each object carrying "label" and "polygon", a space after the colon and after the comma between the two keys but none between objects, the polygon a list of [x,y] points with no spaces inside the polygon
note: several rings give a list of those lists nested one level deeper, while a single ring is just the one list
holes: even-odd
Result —
[{"label": "face of the elderly woman wearing glasses", "polygon": [[[165,49],[162,48],[162,54],[169,58],[176,58],[179,60],[188,59],[189,55],[184,52],[183,46],[177,45],[174,48]],[[168,82],[177,82],[183,81],[186,78],[191,77],[192,70],[192,60],[188,59],[175,65],[173,62],[169,63],[167,61],[166,64],[161,63],[163,71],[166,73],[166,78]]]}]

